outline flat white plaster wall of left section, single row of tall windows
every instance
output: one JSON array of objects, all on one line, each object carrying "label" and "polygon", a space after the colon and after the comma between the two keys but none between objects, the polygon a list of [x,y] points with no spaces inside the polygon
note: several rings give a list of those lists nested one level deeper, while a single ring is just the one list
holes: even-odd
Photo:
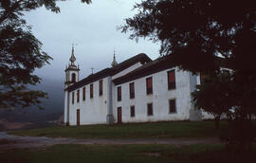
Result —
[{"label": "flat white plaster wall of left section, single row of tall windows", "polygon": [[99,81],[93,83],[93,99],[90,99],[90,84],[85,85],[85,100],[82,100],[82,87],[80,88],[80,102],[77,102],[77,90],[75,90],[75,102],[72,104],[70,93],[70,125],[77,125],[77,109],[80,109],[80,122],[83,124],[106,123],[108,80],[102,79],[102,96],[99,96]]}]

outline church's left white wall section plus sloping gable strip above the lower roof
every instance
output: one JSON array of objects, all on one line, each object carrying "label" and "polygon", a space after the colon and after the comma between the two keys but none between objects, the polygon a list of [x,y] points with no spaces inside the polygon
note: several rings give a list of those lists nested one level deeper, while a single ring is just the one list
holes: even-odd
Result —
[{"label": "church's left white wall section plus sloping gable strip above the lower roof", "polygon": [[[127,73],[137,69],[137,67],[141,66],[141,63],[135,63],[134,65],[124,69],[123,71],[119,72],[118,74],[114,75],[113,78],[119,78],[120,76],[126,75]],[[77,125],[77,109],[80,109],[80,124],[105,124],[106,123],[106,116],[108,114],[107,108],[111,107],[112,103],[109,103],[109,80],[106,77],[102,79],[103,84],[103,94],[99,96],[99,81],[94,81],[93,83],[93,99],[90,99],[90,84],[85,85],[85,100],[82,100],[82,88],[80,89],[80,102],[77,102],[77,90],[69,92],[69,124],[70,125]],[[112,82],[112,81],[111,81]],[[112,83],[112,92],[115,92],[115,84]],[[72,104],[72,92],[75,93],[74,104]],[[113,100],[112,100],[113,101]],[[109,103],[109,106],[108,106]],[[64,114],[66,113],[64,109]],[[112,110],[113,113],[113,110]],[[114,113],[115,114],[115,113]],[[66,114],[68,116],[68,114]],[[65,121],[66,122],[66,121]]]}]

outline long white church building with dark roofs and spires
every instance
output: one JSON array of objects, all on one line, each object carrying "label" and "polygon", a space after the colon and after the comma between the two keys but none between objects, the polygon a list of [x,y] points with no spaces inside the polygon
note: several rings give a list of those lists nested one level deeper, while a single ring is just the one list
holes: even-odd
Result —
[{"label": "long white church building with dark roofs and spires", "polygon": [[209,115],[192,106],[199,76],[179,70],[172,57],[152,61],[140,53],[80,80],[74,47],[65,69],[66,125],[201,120]]}]

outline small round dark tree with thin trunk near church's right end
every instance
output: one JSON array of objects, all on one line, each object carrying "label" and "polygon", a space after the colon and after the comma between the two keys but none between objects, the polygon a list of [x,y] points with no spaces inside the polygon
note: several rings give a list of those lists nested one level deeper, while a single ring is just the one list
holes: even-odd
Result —
[{"label": "small round dark tree with thin trunk near church's right end", "polygon": [[221,116],[228,113],[232,106],[230,78],[231,75],[226,71],[203,76],[201,84],[197,85],[197,89],[192,92],[194,106],[214,116],[216,129],[219,129]]}]

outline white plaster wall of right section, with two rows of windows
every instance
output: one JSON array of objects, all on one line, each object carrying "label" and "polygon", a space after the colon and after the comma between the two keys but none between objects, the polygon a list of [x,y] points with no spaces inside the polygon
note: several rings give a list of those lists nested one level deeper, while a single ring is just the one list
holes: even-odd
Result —
[{"label": "white plaster wall of right section, with two rows of windows", "polygon": [[[135,82],[135,99],[130,100],[129,82],[116,85],[114,88],[113,106],[117,120],[117,108],[122,108],[123,122],[142,122],[157,120],[184,120],[189,119],[191,108],[190,73],[175,69],[176,89],[168,90],[166,69]],[[153,95],[146,95],[146,78],[153,77]],[[117,87],[121,86],[121,101],[117,101]],[[169,113],[169,100],[176,100],[176,113]],[[147,103],[153,103],[153,116],[147,115]],[[130,117],[130,106],[135,105],[135,118]]]}]

